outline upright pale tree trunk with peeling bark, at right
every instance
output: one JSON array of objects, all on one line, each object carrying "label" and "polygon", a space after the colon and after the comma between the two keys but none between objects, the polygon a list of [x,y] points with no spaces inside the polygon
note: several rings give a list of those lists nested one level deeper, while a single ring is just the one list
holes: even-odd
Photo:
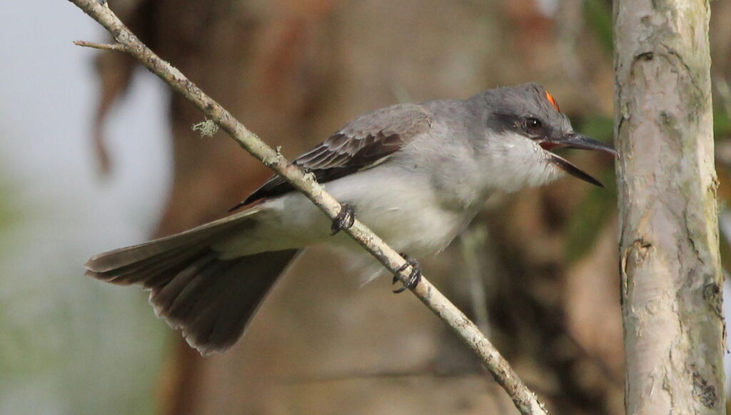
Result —
[{"label": "upright pale tree trunk with peeling bark, at right", "polygon": [[616,1],[627,414],[724,414],[707,0]]}]

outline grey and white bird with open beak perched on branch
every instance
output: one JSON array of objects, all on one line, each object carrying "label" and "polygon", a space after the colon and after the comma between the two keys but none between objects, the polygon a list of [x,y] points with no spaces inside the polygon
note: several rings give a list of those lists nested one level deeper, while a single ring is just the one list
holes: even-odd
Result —
[{"label": "grey and white bird with open beak perched on branch", "polygon": [[575,132],[538,83],[391,105],[349,121],[293,161],[342,203],[336,220],[275,175],[229,216],[94,255],[86,275],[141,285],[156,315],[181,329],[189,345],[201,354],[226,351],[306,247],[330,244],[369,257],[338,233],[356,216],[413,265],[404,283],[413,288],[420,280],[415,258],[447,247],[491,194],[564,174],[603,187],[552,152],[558,148],[618,156]]}]

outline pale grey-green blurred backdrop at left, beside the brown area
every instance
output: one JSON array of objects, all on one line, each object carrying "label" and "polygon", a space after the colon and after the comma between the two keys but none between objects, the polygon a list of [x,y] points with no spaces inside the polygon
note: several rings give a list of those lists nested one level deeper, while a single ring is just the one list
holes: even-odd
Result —
[{"label": "pale grey-green blurred backdrop at left, beside the brown area", "polygon": [[68,1],[0,9],[0,414],[150,413],[168,330],[146,294],[83,277],[102,250],[143,241],[170,182],[167,93],[140,70],[113,110],[113,174],[91,121],[105,39]]}]

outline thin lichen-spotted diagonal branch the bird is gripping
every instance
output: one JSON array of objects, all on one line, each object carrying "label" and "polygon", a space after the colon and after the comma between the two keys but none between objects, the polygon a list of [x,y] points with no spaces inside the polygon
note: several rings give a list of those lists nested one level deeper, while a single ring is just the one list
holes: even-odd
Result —
[{"label": "thin lichen-spotted diagonal branch the bird is gripping", "polygon": [[[86,12],[99,24],[105,27],[114,39],[121,45],[121,50],[132,55],[140,61],[155,75],[183,94],[194,105],[205,113],[210,119],[229,133],[238,144],[251,153],[257,160],[267,165],[280,176],[287,179],[287,182],[303,192],[306,197],[334,219],[341,210],[341,204],[330,194],[323,190],[310,174],[306,174],[292,163],[288,162],[276,150],[267,146],[257,135],[249,131],[243,124],[237,121],[218,102],[208,97],[194,83],[189,81],[179,70],[163,61],[153,51],[137,39],[137,36],[124,26],[124,23],[107,7],[99,4],[96,0],[69,0]],[[351,228],[344,230],[361,244],[371,255],[374,255],[390,272],[398,276],[402,281],[409,277],[411,266],[404,265],[404,258],[393,248],[389,247],[382,239],[376,236],[366,225],[356,220]],[[489,340],[482,335],[477,326],[466,317],[454,304],[452,304],[442,293],[440,293],[429,281],[423,277],[421,282],[412,289],[412,292],[433,311],[439,318],[447,323],[452,330],[474,351],[482,360],[485,367],[495,377],[496,381],[510,395],[516,408],[524,415],[547,414],[543,405],[539,403],[536,395],[531,392],[518,374],[510,367],[507,360],[499,354]]]}]

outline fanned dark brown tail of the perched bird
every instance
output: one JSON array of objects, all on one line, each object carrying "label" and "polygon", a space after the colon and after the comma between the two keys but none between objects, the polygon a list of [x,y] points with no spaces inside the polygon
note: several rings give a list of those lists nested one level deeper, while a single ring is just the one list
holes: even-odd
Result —
[{"label": "fanned dark brown tail of the perched bird", "polygon": [[177,235],[94,255],[86,274],[151,290],[155,313],[183,329],[201,354],[224,351],[243,334],[262,299],[298,253],[281,250],[221,259],[211,245],[256,225],[258,206]]}]

